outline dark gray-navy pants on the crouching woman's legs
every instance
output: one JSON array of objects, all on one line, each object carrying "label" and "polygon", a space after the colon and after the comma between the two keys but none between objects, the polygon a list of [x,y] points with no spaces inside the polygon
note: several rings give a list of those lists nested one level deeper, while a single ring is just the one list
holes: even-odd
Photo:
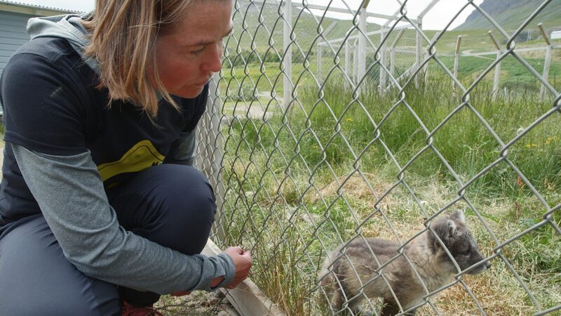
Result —
[{"label": "dark gray-navy pants on the crouching woman's legs", "polygon": [[[201,187],[174,199],[162,183]],[[163,164],[142,171],[124,185],[107,190],[109,203],[126,230],[184,254],[200,254],[215,219],[208,180],[189,166]],[[162,223],[177,223],[170,227]],[[189,240],[186,243],[185,240]],[[159,295],[117,287],[83,275],[62,254],[41,214],[0,230],[0,315],[121,315],[122,300],[151,305]]]}]

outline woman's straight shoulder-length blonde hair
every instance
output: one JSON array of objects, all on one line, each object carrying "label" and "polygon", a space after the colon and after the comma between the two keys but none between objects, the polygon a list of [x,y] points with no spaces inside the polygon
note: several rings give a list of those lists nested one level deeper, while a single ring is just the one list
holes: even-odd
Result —
[{"label": "woman's straight shoulder-length blonde hair", "polygon": [[99,62],[100,87],[112,100],[132,101],[150,117],[158,113],[158,95],[177,108],[165,91],[154,48],[159,34],[173,31],[195,0],[96,0],[86,55]]}]

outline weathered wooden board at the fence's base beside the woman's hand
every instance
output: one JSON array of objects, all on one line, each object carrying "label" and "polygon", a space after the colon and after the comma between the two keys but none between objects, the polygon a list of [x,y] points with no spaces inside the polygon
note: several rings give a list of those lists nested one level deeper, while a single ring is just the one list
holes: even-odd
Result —
[{"label": "weathered wooden board at the fence's base beside the woman's hand", "polygon": [[[222,251],[212,240],[203,249],[205,256],[215,256]],[[220,289],[228,301],[243,316],[283,316],[286,315],[278,306],[273,303],[264,293],[251,281],[250,278],[243,280],[235,289]]]}]

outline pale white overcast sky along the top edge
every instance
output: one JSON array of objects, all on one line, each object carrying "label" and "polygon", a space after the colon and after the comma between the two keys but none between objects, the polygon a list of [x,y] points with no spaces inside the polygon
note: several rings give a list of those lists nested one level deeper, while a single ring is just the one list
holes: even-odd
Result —
[{"label": "pale white overcast sky along the top edge", "polygon": [[[269,0],[272,4],[280,2],[279,0]],[[367,11],[372,13],[382,13],[386,15],[393,15],[396,13],[400,5],[403,4],[404,0],[370,0]],[[431,3],[432,0],[408,0],[407,1],[407,16],[410,18],[417,18],[417,15],[424,11],[424,8]],[[18,0],[18,2],[27,4],[39,4],[41,6],[51,6],[54,8],[65,8],[76,11],[90,11],[94,7],[95,0]],[[302,0],[293,0],[295,3],[302,4]],[[328,0],[307,0],[309,4],[320,4],[326,5],[329,3]],[[424,29],[442,29],[445,27],[450,20],[454,17],[456,13],[461,10],[467,0],[440,0],[436,6],[433,7],[431,11],[423,18],[423,28]],[[473,3],[481,4],[483,0],[475,0]],[[346,8],[346,5],[351,9],[356,10],[358,6],[362,3],[362,0],[333,0],[331,6]],[[346,4],[346,5],[345,5]],[[473,11],[472,6],[468,6],[461,15],[454,20],[452,23],[452,28],[460,25],[464,22]],[[317,13],[317,12],[316,12]],[[330,15],[337,18],[337,15]],[[348,17],[344,17],[348,18]],[[380,20],[372,19],[369,22],[381,22]]]}]

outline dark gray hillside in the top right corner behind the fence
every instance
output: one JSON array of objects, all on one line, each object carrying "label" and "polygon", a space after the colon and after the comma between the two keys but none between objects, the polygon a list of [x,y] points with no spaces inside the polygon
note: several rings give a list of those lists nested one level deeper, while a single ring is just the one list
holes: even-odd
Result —
[{"label": "dark gray hillside in the top right corner behind the fence", "polygon": [[[485,0],[480,7],[501,27],[514,30],[518,29],[543,2],[543,0]],[[561,0],[550,1],[546,8],[532,20],[529,27],[536,29],[539,22],[543,22],[548,28],[561,27]],[[489,20],[475,10],[468,16],[466,22],[456,27],[455,30],[492,28]]]}]

